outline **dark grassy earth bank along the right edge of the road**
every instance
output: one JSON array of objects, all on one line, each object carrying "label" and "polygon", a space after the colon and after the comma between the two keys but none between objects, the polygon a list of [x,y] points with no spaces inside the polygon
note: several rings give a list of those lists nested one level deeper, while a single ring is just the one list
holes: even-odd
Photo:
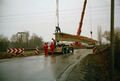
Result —
[{"label": "dark grassy earth bank along the right edge of the road", "polygon": [[[66,81],[111,81],[109,48],[97,54],[89,54],[77,64]],[[115,80],[120,81],[120,72],[115,72]]]}]

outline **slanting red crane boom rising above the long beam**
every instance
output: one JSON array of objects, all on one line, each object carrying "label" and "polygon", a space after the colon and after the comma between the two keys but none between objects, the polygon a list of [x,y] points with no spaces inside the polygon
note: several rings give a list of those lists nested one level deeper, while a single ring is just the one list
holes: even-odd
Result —
[{"label": "slanting red crane boom rising above the long beam", "polygon": [[84,15],[85,15],[86,4],[87,4],[87,0],[84,1],[83,11],[82,11],[82,14],[81,14],[81,20],[80,20],[79,27],[78,27],[78,30],[77,30],[77,35],[81,34],[81,28],[82,28],[82,24],[83,24],[83,18],[84,18]]}]

